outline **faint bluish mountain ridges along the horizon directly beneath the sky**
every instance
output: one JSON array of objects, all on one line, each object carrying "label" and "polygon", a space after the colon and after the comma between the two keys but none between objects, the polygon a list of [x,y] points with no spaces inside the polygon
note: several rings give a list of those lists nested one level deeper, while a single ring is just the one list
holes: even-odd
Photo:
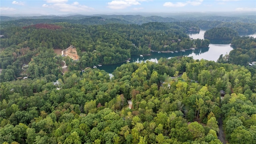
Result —
[{"label": "faint bluish mountain ridges along the horizon directly beneath the sky", "polygon": [[[120,22],[129,23],[129,24],[144,24],[148,22],[181,22],[181,21],[198,21],[198,20],[208,20],[208,21],[221,21],[221,22],[243,22],[243,23],[256,23],[256,15],[251,13],[238,13],[236,14],[218,14],[218,13],[164,13],[162,16],[160,14],[93,14],[93,15],[83,15],[83,14],[74,14],[74,15],[64,15],[64,16],[0,16],[0,21],[11,21],[19,19],[51,19],[51,20],[81,20],[84,18],[92,17],[101,17],[105,20],[114,19],[120,20]],[[107,21],[108,21],[107,20]]]}]

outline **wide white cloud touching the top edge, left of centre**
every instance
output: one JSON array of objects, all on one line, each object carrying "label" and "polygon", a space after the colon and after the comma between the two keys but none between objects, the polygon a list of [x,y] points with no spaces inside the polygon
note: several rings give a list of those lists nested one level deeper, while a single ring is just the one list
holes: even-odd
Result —
[{"label": "wide white cloud touching the top edge, left of centre", "polygon": [[54,10],[59,10],[61,12],[88,12],[94,10],[86,5],[81,5],[79,2],[73,2],[72,4],[67,4],[68,0],[46,0],[48,3],[53,4],[43,4],[44,8],[52,8]]}]

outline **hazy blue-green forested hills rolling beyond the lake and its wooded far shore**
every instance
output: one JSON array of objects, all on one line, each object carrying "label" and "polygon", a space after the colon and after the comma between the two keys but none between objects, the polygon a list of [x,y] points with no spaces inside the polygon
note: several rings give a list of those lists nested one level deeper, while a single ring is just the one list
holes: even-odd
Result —
[{"label": "hazy blue-green forested hills rolling beyond the lake and its wooded far shore", "polygon": [[[164,14],[162,14],[164,15]],[[23,16],[8,17],[0,16],[1,26],[28,26],[39,23],[69,22],[72,24],[138,24],[142,25],[148,22],[190,22],[202,29],[211,29],[216,27],[228,27],[237,32],[256,32],[256,18],[252,15],[224,16],[220,14],[203,13],[173,13],[166,16],[142,16],[142,15],[74,15],[74,16]],[[231,14],[232,15],[232,14]],[[189,30],[189,29],[188,29]]]}]

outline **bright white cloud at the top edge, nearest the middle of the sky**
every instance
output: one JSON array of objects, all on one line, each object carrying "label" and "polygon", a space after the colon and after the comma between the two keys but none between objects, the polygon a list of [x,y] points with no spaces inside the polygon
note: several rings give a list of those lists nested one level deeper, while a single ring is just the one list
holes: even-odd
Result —
[{"label": "bright white cloud at the top edge, nearest the middle of the sky", "polygon": [[141,1],[146,1],[146,0],[113,0],[111,2],[108,2],[107,7],[115,10],[120,10],[120,9],[127,8],[129,6],[140,5]]}]

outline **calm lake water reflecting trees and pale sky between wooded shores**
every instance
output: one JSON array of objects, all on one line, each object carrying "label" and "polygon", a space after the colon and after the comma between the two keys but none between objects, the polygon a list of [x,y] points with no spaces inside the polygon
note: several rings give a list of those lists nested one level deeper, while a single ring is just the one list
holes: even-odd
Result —
[{"label": "calm lake water reflecting trees and pale sky between wooded shores", "polygon": [[[190,38],[193,39],[204,39],[204,32],[206,30],[200,30],[200,32],[190,32],[188,35]],[[242,33],[239,34],[240,36],[253,36],[256,38],[256,33],[248,34],[248,33]],[[220,42],[221,43],[221,42]],[[197,48],[195,50],[186,50],[186,52],[174,52],[174,53],[158,53],[158,52],[151,52],[150,56],[132,56],[130,59],[130,62],[142,62],[142,61],[151,61],[151,62],[158,62],[158,60],[162,58],[173,58],[175,56],[193,56],[195,60],[213,60],[217,61],[221,54],[229,54],[229,52],[233,50],[231,48],[230,44],[210,44],[209,48]],[[101,67],[98,67],[100,70],[105,70],[108,73],[112,73],[117,67],[121,66],[122,64],[125,64],[126,62],[119,63],[119,64],[108,64],[108,65],[102,65]]]}]

